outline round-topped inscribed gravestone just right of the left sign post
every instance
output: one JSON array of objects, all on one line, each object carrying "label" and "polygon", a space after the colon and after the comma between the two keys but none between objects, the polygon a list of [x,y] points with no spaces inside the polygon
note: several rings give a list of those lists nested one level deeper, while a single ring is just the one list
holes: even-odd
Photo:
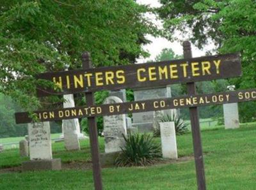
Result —
[{"label": "round-topped inscribed gravestone just right of the left sign post", "polygon": [[[122,103],[122,100],[116,96],[109,96],[105,99],[104,104]],[[120,147],[125,144],[122,134],[127,135],[125,114],[109,115],[103,117],[105,152],[118,152]]]}]

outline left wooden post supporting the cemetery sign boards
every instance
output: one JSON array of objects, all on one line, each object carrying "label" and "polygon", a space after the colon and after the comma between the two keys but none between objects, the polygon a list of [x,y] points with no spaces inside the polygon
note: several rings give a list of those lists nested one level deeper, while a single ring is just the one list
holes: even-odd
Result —
[{"label": "left wooden post supporting the cemetery sign boards", "polygon": [[[92,68],[92,62],[90,60],[89,52],[84,52],[82,55],[83,69]],[[94,105],[94,96],[93,92],[86,92],[86,105],[93,106]],[[92,152],[92,166],[93,166],[93,180],[94,187],[96,190],[102,190],[102,178],[100,171],[100,159],[99,159],[99,142],[98,142],[98,132],[97,132],[97,124],[95,117],[88,117],[88,127],[89,127],[89,135],[90,135],[90,147]]]}]

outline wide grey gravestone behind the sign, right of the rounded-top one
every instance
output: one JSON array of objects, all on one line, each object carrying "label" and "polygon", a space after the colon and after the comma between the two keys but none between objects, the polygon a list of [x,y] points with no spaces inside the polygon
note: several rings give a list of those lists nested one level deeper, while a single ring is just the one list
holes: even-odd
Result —
[{"label": "wide grey gravestone behind the sign, right of the rounded-top one", "polygon": [[[170,97],[172,97],[170,87],[134,90],[135,101]],[[172,111],[163,110],[163,113],[164,115],[170,115]],[[153,131],[154,121],[154,112],[132,113],[132,126],[138,128],[141,133]]]}]

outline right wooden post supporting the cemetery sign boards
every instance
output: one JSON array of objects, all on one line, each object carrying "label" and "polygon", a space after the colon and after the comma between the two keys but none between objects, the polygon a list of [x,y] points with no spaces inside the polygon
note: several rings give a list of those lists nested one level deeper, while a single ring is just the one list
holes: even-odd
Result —
[{"label": "right wooden post supporting the cemetery sign boards", "polygon": [[[184,59],[192,58],[190,42],[184,41],[182,45],[183,45]],[[188,95],[196,94],[195,82],[187,83],[187,89],[188,89]],[[198,110],[196,106],[189,108],[189,115],[191,120],[191,131],[193,136],[197,186],[199,190],[204,190],[206,189],[205,174],[204,174],[204,158],[203,158],[203,152],[202,152]]]}]

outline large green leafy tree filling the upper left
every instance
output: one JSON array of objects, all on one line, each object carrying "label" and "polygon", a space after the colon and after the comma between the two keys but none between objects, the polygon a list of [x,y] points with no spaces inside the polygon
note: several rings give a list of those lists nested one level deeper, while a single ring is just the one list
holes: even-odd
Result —
[{"label": "large green leafy tree filling the upper left", "polygon": [[[156,34],[135,1],[1,0],[0,92],[24,109],[51,106],[35,96],[38,73],[81,68],[91,52],[93,66],[129,64],[147,55],[145,34]],[[54,99],[56,101],[56,99]]]}]

